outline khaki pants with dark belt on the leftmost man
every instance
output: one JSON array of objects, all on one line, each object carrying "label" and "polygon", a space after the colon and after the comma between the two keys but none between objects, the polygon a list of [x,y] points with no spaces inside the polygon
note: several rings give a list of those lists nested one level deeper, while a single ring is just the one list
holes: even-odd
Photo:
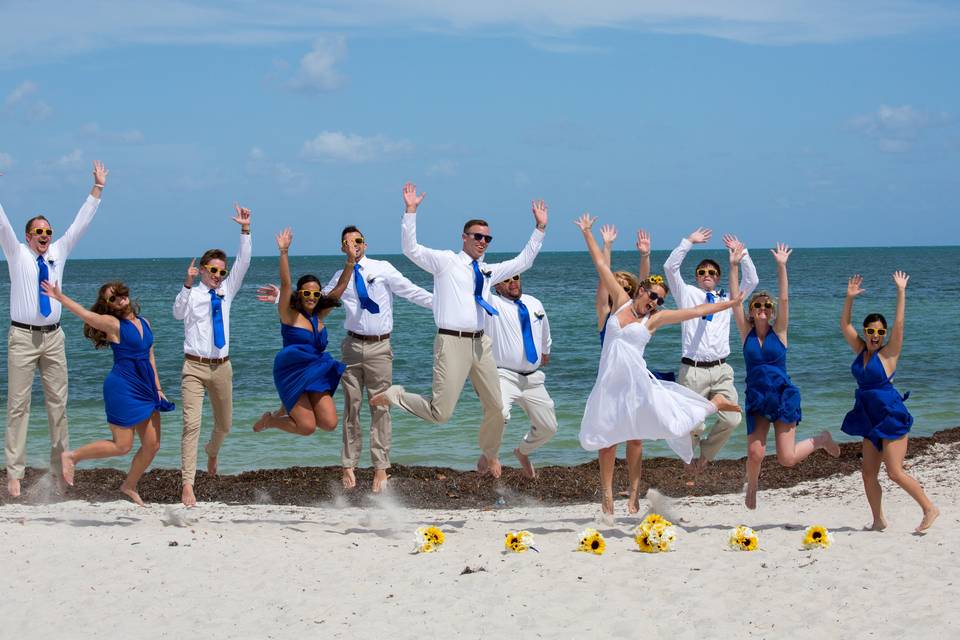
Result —
[{"label": "khaki pants with dark belt on the leftmost man", "polygon": [[60,454],[70,447],[63,330],[43,333],[11,326],[7,334],[7,477],[23,478],[27,466],[30,396],[38,368],[50,425],[50,470],[58,476]]}]

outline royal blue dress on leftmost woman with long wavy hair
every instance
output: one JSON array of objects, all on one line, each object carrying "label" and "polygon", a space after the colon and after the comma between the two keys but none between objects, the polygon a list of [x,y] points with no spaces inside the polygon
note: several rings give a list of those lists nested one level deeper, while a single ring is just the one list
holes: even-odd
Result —
[{"label": "royal blue dress on leftmost woman with long wavy hair", "polygon": [[160,398],[153,365],[150,364],[153,331],[143,318],[137,318],[143,327],[142,337],[133,322],[120,320],[120,342],[110,344],[113,369],[103,381],[107,422],[125,428],[140,424],[154,411],[173,411],[175,406]]}]

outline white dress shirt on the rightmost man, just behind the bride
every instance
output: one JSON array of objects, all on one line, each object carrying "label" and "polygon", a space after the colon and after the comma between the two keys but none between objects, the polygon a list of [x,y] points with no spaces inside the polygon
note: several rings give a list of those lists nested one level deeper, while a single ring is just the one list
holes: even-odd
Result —
[{"label": "white dress shirt on the rightmost man, just behind the bride", "polygon": [[[706,304],[707,292],[698,286],[689,285],[680,275],[680,266],[693,243],[684,238],[680,246],[673,250],[667,261],[663,263],[664,275],[670,291],[673,293],[677,306],[688,309],[700,304]],[[740,261],[740,291],[744,297],[749,297],[757,288],[760,279],[757,277],[757,268],[750,259],[750,254],[744,251]],[[716,294],[716,292],[714,292]],[[717,297],[716,301],[728,300],[728,296]],[[696,362],[714,362],[730,355],[730,318],[733,311],[727,309],[713,314],[712,320],[694,318],[684,320],[681,324],[683,333],[683,357]]]}]

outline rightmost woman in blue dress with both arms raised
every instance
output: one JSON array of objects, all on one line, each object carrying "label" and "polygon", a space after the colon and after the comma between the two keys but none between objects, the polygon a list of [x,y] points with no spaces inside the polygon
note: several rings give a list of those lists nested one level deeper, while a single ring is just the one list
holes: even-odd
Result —
[{"label": "rightmost woman in blue dress with both arms raised", "polygon": [[933,506],[923,487],[903,469],[903,458],[907,454],[907,434],[913,425],[913,416],[907,411],[903,401],[907,395],[893,386],[893,376],[897,371],[897,361],[903,348],[903,324],[907,306],[907,282],[910,276],[903,271],[893,274],[897,286],[897,311],[887,335],[887,320],[879,313],[871,313],[863,320],[861,336],[850,322],[853,314],[853,299],[863,293],[863,278],[855,275],[847,281],[847,297],[840,316],[840,329],[847,344],[856,355],[850,371],[857,381],[857,393],[853,410],[843,419],[841,429],[844,433],[863,438],[863,462],[860,473],[863,476],[863,489],[873,512],[873,524],[870,529],[882,531],[887,526],[883,517],[880,488],[880,463],[887,467],[887,475],[900,485],[910,497],[923,509],[923,519],[915,529],[918,533],[926,531],[940,515]]}]

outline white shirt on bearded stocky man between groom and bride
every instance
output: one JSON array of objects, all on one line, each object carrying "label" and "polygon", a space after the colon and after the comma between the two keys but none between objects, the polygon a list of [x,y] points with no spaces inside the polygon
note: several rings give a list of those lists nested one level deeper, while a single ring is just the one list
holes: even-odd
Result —
[{"label": "white shirt on bearded stocky man between groom and bride", "polygon": [[513,300],[499,295],[490,296],[490,304],[500,315],[487,316],[487,334],[493,343],[493,359],[498,368],[531,373],[540,366],[543,355],[550,353],[550,322],[539,300],[524,293],[520,295],[520,302],[530,313],[530,332],[537,348],[536,362],[527,360],[527,353],[523,348],[523,331],[520,329],[520,307]]}]

